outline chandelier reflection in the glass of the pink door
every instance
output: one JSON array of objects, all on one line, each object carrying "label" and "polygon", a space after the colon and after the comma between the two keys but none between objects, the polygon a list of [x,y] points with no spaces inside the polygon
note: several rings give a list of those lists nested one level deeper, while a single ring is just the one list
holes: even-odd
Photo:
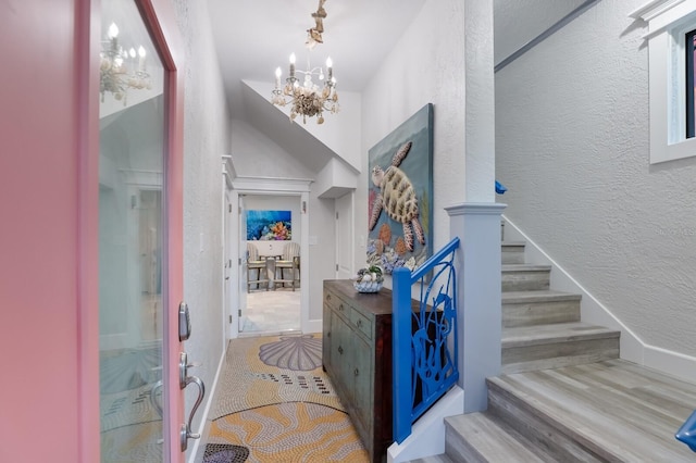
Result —
[{"label": "chandelier reflection in the glass of the pink door", "polygon": [[146,70],[145,47],[140,46],[136,52],[132,47],[126,51],[119,45],[119,27],[111,23],[107,33],[108,45],[102,49],[99,57],[99,92],[101,102],[104,101],[107,91],[113,95],[117,101],[123,100],[123,105],[127,104],[128,89],[151,88],[150,74]]}]

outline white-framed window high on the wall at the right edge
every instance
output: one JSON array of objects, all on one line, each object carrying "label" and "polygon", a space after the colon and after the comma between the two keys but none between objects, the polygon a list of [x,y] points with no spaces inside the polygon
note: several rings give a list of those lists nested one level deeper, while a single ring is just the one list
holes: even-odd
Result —
[{"label": "white-framed window high on the wall at the right edge", "polygon": [[696,155],[696,0],[651,0],[630,15],[649,25],[650,163]]}]

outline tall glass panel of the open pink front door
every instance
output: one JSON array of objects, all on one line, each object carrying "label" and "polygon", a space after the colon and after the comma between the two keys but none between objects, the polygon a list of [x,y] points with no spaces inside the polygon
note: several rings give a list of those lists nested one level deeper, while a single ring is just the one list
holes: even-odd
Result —
[{"label": "tall glass panel of the open pink front door", "polygon": [[134,1],[101,21],[101,461],[161,462],[163,71]]}]

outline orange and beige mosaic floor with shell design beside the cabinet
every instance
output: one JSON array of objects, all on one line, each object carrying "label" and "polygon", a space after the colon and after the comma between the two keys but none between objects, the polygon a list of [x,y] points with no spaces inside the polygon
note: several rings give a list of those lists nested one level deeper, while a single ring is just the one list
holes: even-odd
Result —
[{"label": "orange and beige mosaic floor with shell design beside the cabinet", "polygon": [[320,335],[232,340],[209,443],[247,448],[249,463],[368,462],[321,355]]}]

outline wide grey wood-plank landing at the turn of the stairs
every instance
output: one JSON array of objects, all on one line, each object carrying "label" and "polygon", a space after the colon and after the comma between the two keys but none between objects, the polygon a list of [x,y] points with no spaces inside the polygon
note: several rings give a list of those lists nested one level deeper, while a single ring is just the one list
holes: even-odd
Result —
[{"label": "wide grey wood-plank landing at the turn of the stairs", "polygon": [[492,393],[513,397],[526,413],[550,423],[601,460],[695,459],[674,439],[696,403],[693,384],[623,360],[514,373],[487,381]]}]

